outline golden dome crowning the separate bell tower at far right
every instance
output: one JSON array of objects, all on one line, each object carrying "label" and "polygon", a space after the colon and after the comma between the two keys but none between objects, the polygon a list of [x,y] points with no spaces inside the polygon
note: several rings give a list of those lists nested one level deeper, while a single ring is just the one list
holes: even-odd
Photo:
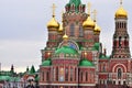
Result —
[{"label": "golden dome crowning the separate bell tower at far right", "polygon": [[123,7],[120,7],[116,12],[116,18],[127,18],[128,12],[123,9]]}]

